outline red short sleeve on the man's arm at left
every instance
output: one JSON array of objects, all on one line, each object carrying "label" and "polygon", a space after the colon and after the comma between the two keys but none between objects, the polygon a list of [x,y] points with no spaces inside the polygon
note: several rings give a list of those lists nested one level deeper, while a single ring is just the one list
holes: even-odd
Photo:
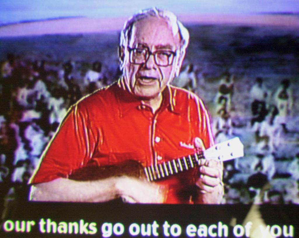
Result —
[{"label": "red short sleeve on the man's arm at left", "polygon": [[77,104],[72,107],[42,154],[39,168],[29,183],[67,178],[73,170],[89,162],[97,139],[95,133],[89,129],[88,119],[85,109],[79,110]]}]

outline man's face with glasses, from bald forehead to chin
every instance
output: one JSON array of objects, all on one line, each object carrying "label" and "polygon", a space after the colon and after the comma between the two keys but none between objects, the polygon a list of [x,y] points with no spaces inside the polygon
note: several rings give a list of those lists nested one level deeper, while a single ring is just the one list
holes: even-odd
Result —
[{"label": "man's face with glasses, from bald forehead to chin", "polygon": [[[129,49],[124,50],[129,55],[124,67],[126,84],[133,94],[142,98],[157,97],[173,80],[179,67],[179,34],[173,35],[163,18],[147,17],[135,22]],[[157,53],[154,56],[149,52]],[[167,59],[172,64],[165,66]]]}]

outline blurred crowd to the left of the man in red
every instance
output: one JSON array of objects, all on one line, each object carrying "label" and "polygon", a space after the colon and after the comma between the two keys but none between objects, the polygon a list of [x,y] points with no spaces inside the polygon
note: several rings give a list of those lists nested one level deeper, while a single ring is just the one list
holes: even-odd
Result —
[{"label": "blurred crowd to the left of the man in red", "polygon": [[99,61],[83,66],[7,54],[0,78],[0,190],[6,200],[28,200],[28,180],[68,108],[110,83]]}]

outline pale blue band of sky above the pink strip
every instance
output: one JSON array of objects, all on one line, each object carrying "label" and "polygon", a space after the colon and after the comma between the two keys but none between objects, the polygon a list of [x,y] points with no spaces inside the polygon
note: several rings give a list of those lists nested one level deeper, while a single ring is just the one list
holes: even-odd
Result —
[{"label": "pale blue band of sky above the pink strip", "polygon": [[153,6],[177,15],[299,12],[299,0],[0,0],[0,24],[75,16],[128,17]]}]

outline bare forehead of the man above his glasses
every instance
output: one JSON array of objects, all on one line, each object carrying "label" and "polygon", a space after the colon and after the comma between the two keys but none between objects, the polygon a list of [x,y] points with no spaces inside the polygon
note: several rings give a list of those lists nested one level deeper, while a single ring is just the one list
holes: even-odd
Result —
[{"label": "bare forehead of the man above his glasses", "polygon": [[132,27],[129,46],[138,45],[175,50],[179,47],[179,33],[173,33],[173,29],[164,18],[150,16],[135,22]]}]

